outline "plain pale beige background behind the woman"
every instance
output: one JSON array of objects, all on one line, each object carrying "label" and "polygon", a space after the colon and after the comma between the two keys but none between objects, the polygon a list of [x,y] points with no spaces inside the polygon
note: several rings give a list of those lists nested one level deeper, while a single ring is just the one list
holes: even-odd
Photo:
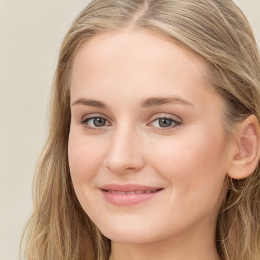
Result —
[{"label": "plain pale beige background behind the woman", "polygon": [[[0,0],[0,260],[18,259],[58,49],[83,0]],[[260,43],[260,0],[237,0]]]}]

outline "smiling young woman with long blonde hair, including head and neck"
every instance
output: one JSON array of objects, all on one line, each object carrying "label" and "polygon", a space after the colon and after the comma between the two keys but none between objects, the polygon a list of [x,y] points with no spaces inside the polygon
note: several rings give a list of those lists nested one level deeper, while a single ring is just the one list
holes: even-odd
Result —
[{"label": "smiling young woman with long blonde hair, including head and neck", "polygon": [[61,46],[27,259],[259,259],[260,61],[231,0],[92,1]]}]

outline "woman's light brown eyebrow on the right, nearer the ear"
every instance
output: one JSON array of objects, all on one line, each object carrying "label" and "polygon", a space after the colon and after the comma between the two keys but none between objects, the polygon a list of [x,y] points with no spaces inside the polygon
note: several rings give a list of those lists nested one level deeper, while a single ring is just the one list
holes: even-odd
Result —
[{"label": "woman's light brown eyebrow on the right, nearer the ear", "polygon": [[177,103],[177,104],[188,105],[188,106],[194,107],[194,105],[192,103],[180,98],[179,96],[175,96],[175,97],[169,96],[166,98],[164,98],[164,97],[163,98],[157,98],[157,97],[148,98],[148,99],[142,100],[140,103],[140,106],[147,108],[147,107],[156,107],[156,106],[169,104],[169,103]]}]

